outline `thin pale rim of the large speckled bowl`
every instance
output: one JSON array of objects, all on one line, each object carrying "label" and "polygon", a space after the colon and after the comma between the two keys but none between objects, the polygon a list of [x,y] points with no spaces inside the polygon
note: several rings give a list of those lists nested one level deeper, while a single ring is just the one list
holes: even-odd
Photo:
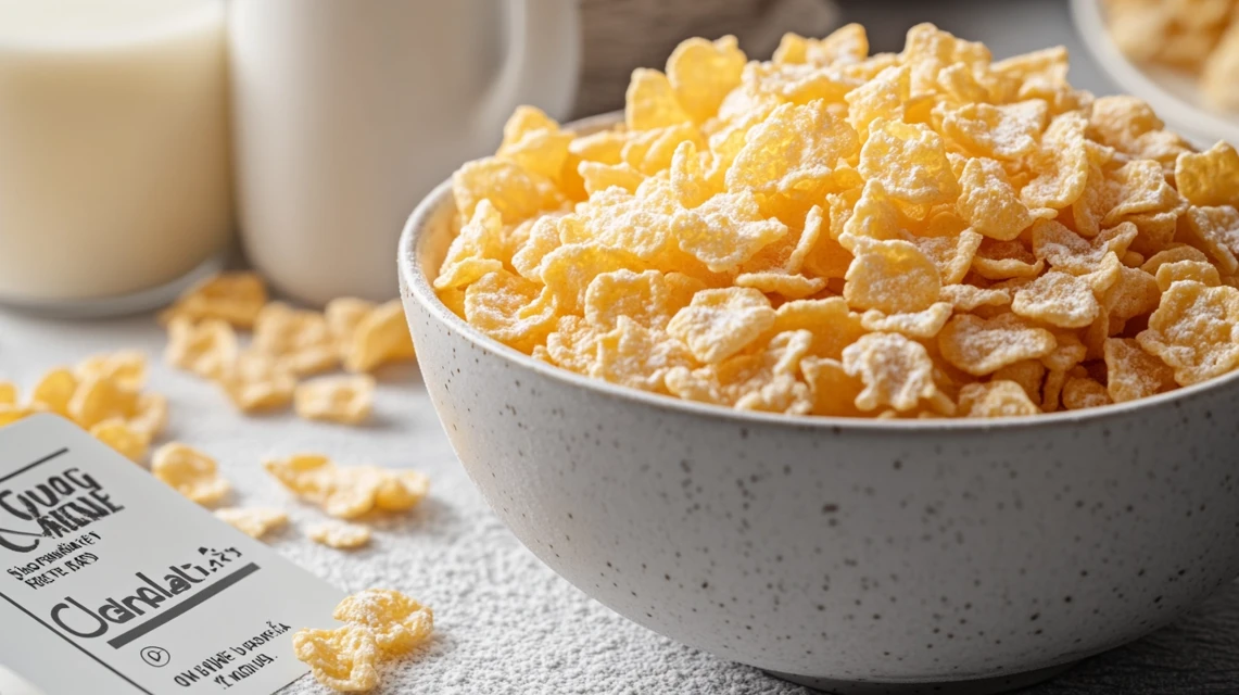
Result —
[{"label": "thin pale rim of the large speckled bowl", "polygon": [[[565,128],[574,130],[605,128],[615,124],[620,118],[618,114],[620,111],[612,111],[589,116],[565,124]],[[934,417],[924,420],[878,420],[876,417],[841,417],[834,415],[787,415],[782,413],[737,410],[724,405],[698,403],[668,395],[647,393],[639,389],[612,384],[602,379],[585,377],[575,372],[569,372],[561,367],[548,364],[540,359],[535,359],[478,331],[463,318],[457,316],[452,310],[447,308],[435,292],[431,280],[421,270],[419,250],[421,240],[425,238],[422,232],[430,227],[430,222],[440,213],[440,211],[449,204],[455,204],[451,178],[447,178],[426,195],[426,197],[418,203],[418,207],[405,222],[404,229],[400,233],[396,254],[400,280],[405,289],[404,292],[401,292],[404,295],[403,299],[408,300],[409,297],[413,297],[430,316],[435,317],[449,330],[461,334],[475,347],[499,357],[517,367],[532,370],[539,375],[554,379],[566,385],[598,391],[615,399],[637,403],[659,410],[670,410],[707,419],[733,420],[741,424],[776,425],[787,429],[817,429],[834,431],[861,430],[890,434],[960,434],[984,432],[990,430],[1031,430],[1062,425],[1108,422],[1118,420],[1136,410],[1171,405],[1178,408],[1183,404],[1183,401],[1192,400],[1218,389],[1232,387],[1239,382],[1239,369],[1235,369],[1228,374],[1214,377],[1213,379],[1208,379],[1199,384],[1180,387],[1163,394],[1099,408],[1087,408],[1084,410],[1059,410],[1054,413],[1041,413],[1037,415],[1020,415],[1012,417]]]}]

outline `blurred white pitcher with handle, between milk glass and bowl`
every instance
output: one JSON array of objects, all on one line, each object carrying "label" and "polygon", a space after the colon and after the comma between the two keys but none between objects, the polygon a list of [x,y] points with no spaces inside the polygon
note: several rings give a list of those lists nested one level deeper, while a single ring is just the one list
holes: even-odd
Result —
[{"label": "blurred white pitcher with handle, between milk glass and bowl", "polygon": [[576,0],[232,0],[229,30],[245,250],[312,305],[394,297],[418,201],[576,92]]}]

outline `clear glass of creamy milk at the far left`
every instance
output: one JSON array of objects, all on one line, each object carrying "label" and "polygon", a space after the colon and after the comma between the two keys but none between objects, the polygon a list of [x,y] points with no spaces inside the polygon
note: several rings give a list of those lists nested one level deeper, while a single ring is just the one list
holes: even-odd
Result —
[{"label": "clear glass of creamy milk at the far left", "polygon": [[223,0],[0,0],[0,302],[162,304],[233,230]]}]

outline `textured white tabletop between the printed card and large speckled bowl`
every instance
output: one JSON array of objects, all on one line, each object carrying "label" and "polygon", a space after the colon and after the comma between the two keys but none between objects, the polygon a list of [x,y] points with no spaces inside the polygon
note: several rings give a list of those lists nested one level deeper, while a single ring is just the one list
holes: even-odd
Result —
[{"label": "textured white tabletop between the printed card and large speckled bowl", "polygon": [[[289,509],[291,527],[269,538],[276,550],[346,591],[393,587],[435,608],[434,642],[388,667],[377,693],[804,693],[629,623],[546,569],[473,489],[415,368],[382,374],[372,425],[342,427],[291,414],[238,415],[211,384],[166,368],[162,346],[150,317],[73,323],[0,312],[0,379],[28,388],[46,369],[94,352],[145,349],[150,388],[171,401],[166,436],[218,457],[237,488],[232,503]],[[302,534],[323,515],[294,502],[260,467],[266,456],[300,450],[415,467],[430,476],[431,497],[411,514],[377,523],[368,549],[316,545]],[[305,678],[284,693],[327,691]]]}]

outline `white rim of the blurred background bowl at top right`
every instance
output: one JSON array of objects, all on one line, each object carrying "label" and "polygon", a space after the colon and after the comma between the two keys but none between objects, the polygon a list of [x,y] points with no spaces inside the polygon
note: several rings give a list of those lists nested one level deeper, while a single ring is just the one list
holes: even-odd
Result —
[{"label": "white rim of the blurred background bowl at top right", "polygon": [[1208,147],[1218,140],[1239,142],[1239,116],[1211,110],[1194,76],[1151,66],[1136,66],[1119,51],[1105,26],[1100,0],[1072,0],[1075,28],[1101,69],[1124,92],[1139,97],[1183,136]]}]

